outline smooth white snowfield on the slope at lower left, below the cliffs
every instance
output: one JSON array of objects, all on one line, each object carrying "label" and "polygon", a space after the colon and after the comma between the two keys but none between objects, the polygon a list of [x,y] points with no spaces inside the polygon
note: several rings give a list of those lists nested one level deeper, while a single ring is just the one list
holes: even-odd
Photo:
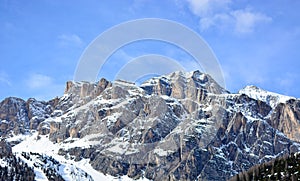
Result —
[{"label": "smooth white snowfield on the slope at lower left, below the cliffs", "polygon": [[[104,175],[91,166],[88,159],[82,159],[79,162],[74,160],[66,159],[64,156],[58,155],[58,150],[60,148],[65,147],[81,147],[84,146],[83,140],[79,140],[77,144],[75,142],[70,143],[70,145],[66,143],[58,143],[54,144],[48,139],[48,135],[38,135],[38,132],[33,132],[31,136],[29,135],[19,135],[18,139],[22,139],[23,141],[12,148],[13,153],[16,154],[17,157],[22,159],[25,163],[27,163],[30,167],[34,167],[34,172],[36,174],[35,179],[37,181],[47,181],[47,177],[45,173],[43,173],[42,169],[36,167],[36,163],[38,160],[35,156],[31,156],[31,160],[27,160],[22,156],[22,153],[38,153],[40,155],[45,155],[46,157],[52,157],[56,161],[59,162],[57,165],[50,165],[51,167],[58,167],[59,174],[66,181],[114,181],[114,180],[122,180],[122,181],[131,181],[133,179],[128,176],[122,176],[120,178],[116,178],[110,175]],[[49,161],[48,161],[49,162]],[[5,165],[6,163],[0,160],[1,165]],[[139,181],[147,181],[148,179],[141,178]]]}]

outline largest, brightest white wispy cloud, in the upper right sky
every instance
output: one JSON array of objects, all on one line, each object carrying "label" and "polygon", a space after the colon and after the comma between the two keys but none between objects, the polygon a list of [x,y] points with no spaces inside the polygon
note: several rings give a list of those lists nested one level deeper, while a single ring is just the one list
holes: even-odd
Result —
[{"label": "largest, brightest white wispy cloud, in the upper right sky", "polygon": [[249,7],[234,9],[231,0],[187,0],[191,12],[199,17],[202,31],[217,28],[234,30],[237,34],[251,33],[272,18]]}]

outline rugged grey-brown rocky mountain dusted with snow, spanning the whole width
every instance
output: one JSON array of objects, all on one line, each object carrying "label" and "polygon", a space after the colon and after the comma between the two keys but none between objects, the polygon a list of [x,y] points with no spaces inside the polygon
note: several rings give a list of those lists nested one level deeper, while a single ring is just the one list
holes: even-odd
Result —
[{"label": "rugged grey-brown rocky mountain dusted with snow, spanning the whole width", "polygon": [[299,118],[296,98],[174,72],[140,86],[70,81],[48,102],[7,98],[0,135],[37,180],[45,169],[64,180],[226,180],[299,152]]}]

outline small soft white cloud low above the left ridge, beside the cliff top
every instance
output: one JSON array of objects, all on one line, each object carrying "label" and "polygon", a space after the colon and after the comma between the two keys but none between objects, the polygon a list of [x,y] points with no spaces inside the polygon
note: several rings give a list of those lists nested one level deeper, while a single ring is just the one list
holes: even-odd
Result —
[{"label": "small soft white cloud low above the left ridge, beside the cliff top", "polygon": [[43,89],[53,85],[53,79],[43,74],[31,74],[26,80],[26,85],[30,89]]}]

